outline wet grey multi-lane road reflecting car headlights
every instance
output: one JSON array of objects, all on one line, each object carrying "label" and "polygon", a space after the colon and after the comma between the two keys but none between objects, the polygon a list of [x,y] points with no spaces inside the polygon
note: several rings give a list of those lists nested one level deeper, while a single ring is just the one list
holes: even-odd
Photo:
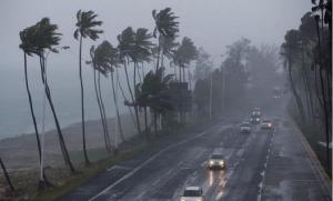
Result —
[{"label": "wet grey multi-lane road reflecting car headlights", "polygon": [[[160,151],[134,157],[113,167],[61,200],[179,200],[188,185],[200,185],[209,201],[327,201],[330,192],[309,162],[292,124],[280,117],[275,131],[216,123]],[[209,171],[214,149],[226,169]]]}]

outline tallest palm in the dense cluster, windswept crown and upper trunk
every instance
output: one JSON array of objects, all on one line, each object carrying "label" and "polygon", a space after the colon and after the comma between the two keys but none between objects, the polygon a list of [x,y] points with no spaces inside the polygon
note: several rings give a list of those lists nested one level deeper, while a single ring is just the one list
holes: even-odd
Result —
[{"label": "tallest palm in the dense cluster, windswept crown and upper trunk", "polygon": [[[179,32],[179,22],[175,21],[178,17],[171,11],[171,8],[165,8],[157,12],[157,10],[152,11],[152,17],[155,21],[155,28],[153,31],[153,36],[159,40],[158,44],[158,58],[157,58],[157,67],[155,71],[158,71],[160,66],[160,57],[161,57],[161,41],[163,38],[165,39],[174,39],[176,33]],[[159,36],[157,34],[159,32]]]}]

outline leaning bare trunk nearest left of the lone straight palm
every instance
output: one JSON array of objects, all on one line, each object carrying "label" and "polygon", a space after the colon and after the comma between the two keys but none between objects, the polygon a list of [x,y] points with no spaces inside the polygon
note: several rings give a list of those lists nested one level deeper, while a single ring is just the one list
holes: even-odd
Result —
[{"label": "leaning bare trunk nearest left of the lone straight palm", "polygon": [[62,131],[61,131],[61,128],[60,128],[60,123],[59,123],[59,120],[58,120],[58,117],[57,117],[57,113],[56,113],[56,109],[54,109],[54,105],[53,105],[53,102],[52,102],[51,92],[50,92],[50,88],[49,88],[48,79],[47,79],[47,73],[46,73],[43,56],[40,56],[40,67],[41,67],[41,78],[42,78],[42,82],[43,82],[43,86],[44,86],[47,99],[48,99],[49,105],[51,108],[51,112],[53,114],[56,129],[57,129],[58,137],[59,137],[59,143],[60,143],[60,148],[61,148],[61,151],[62,151],[62,157],[63,157],[64,163],[69,165],[70,171],[72,173],[74,173],[75,169],[74,169],[74,167],[73,167],[73,164],[70,160],[70,157],[69,157],[65,143],[64,143],[63,134],[62,134]]}]

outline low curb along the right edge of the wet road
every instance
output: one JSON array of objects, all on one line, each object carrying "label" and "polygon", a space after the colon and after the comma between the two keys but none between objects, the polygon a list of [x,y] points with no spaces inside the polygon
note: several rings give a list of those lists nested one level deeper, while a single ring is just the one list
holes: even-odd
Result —
[{"label": "low curb along the right edge of the wet road", "polygon": [[[291,118],[290,118],[291,119]],[[311,167],[314,170],[314,173],[317,175],[317,178],[321,180],[322,189],[325,193],[332,198],[332,181],[330,177],[327,175],[325,169],[322,167],[319,158],[316,157],[315,152],[311,148],[310,143],[307,142],[306,138],[304,137],[303,132],[300,130],[297,124],[294,122],[294,120],[291,119],[292,124],[296,129],[296,132],[294,133],[302,142],[302,148],[309,155]]]}]

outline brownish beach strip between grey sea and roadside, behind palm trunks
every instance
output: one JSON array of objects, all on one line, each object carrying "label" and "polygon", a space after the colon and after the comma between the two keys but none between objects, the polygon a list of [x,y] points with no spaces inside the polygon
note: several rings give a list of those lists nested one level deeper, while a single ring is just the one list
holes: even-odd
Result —
[{"label": "brownish beach strip between grey sea and roadside, behind palm trunks", "polygon": [[[114,118],[109,118],[107,121],[111,144],[114,144]],[[132,137],[135,128],[131,122],[130,115],[123,114],[122,121],[124,137]],[[100,155],[105,154],[101,120],[85,121],[85,130],[87,148],[91,152],[92,158],[98,159]],[[73,162],[80,163],[82,160],[81,122],[63,127],[62,133]],[[120,139],[119,133],[117,135]],[[21,135],[1,139],[0,157],[6,162],[7,168],[11,170],[38,168],[39,157],[34,133],[22,133]],[[44,133],[44,163],[46,167],[63,165],[58,133],[54,129]]]}]

